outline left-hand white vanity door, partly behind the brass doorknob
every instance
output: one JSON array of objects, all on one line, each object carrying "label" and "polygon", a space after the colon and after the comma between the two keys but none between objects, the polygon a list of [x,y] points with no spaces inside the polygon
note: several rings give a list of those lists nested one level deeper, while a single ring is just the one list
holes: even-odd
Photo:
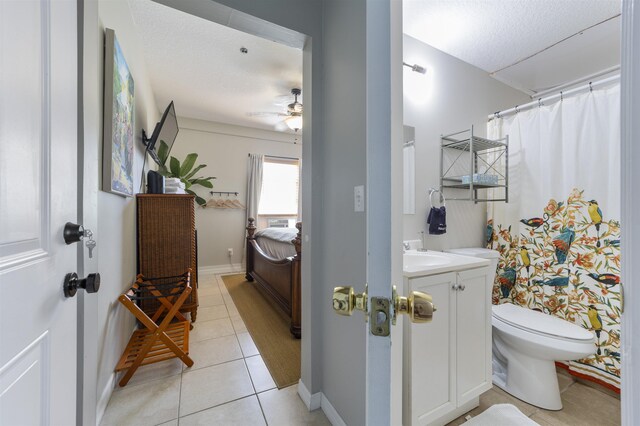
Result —
[{"label": "left-hand white vanity door, partly behind the brass doorknob", "polygon": [[456,408],[455,280],[455,273],[448,273],[409,281],[409,290],[430,294],[438,310],[429,324],[405,322],[409,334],[405,335],[409,347],[405,401],[411,416],[405,424],[430,424]]}]

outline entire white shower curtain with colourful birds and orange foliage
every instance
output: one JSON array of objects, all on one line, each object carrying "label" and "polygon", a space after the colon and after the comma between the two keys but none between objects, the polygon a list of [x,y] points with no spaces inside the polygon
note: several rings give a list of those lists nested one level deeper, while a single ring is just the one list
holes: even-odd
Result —
[{"label": "entire white shower curtain with colourful birds and orange foliage", "polygon": [[493,303],[592,330],[597,352],[563,364],[619,391],[619,85],[491,120],[487,134],[509,135],[509,203],[488,203]]}]

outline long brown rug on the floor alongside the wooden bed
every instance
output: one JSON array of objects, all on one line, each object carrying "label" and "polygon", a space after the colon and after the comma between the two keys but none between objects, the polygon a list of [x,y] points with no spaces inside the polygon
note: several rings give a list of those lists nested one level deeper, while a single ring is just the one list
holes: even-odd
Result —
[{"label": "long brown rug on the floor alongside the wooden bed", "polygon": [[300,379],[300,339],[289,332],[290,320],[248,282],[244,274],[222,277],[278,389]]}]

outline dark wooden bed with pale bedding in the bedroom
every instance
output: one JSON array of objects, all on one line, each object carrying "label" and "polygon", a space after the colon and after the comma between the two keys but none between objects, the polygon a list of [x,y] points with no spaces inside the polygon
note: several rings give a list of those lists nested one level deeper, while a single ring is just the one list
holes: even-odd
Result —
[{"label": "dark wooden bed with pale bedding in the bedroom", "polygon": [[247,225],[248,281],[257,284],[290,318],[289,330],[301,336],[300,264],[302,261],[302,222],[296,228],[266,228],[256,232],[255,219]]}]

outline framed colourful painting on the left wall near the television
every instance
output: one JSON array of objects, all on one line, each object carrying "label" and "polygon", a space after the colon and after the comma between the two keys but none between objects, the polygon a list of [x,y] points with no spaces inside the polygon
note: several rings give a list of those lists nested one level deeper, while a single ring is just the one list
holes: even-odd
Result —
[{"label": "framed colourful painting on the left wall near the television", "polygon": [[113,30],[105,29],[102,190],[133,196],[134,84]]}]

